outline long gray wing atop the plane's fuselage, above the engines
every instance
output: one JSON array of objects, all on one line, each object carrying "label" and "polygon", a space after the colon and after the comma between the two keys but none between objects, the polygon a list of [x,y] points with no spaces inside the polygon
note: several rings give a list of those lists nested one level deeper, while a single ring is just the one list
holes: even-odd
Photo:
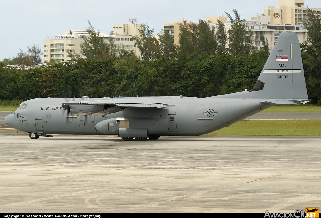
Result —
[{"label": "long gray wing atop the plane's fuselage, above the engines", "polygon": [[150,99],[103,98],[98,100],[67,101],[65,105],[114,105],[118,107],[166,108],[167,105]]}]

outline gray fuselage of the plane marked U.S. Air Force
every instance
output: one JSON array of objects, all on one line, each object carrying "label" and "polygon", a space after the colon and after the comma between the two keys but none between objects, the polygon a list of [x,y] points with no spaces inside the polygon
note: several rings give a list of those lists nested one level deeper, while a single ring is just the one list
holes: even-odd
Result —
[{"label": "gray fuselage of the plane marked U.S. Air Force", "polygon": [[[148,135],[194,136],[227,127],[269,107],[258,99],[133,98],[159,101],[167,107],[130,107],[105,116],[76,116],[62,107],[65,98],[39,98],[25,101],[27,106],[20,106],[12,117],[16,129],[39,134],[119,135],[119,128],[129,128],[147,129]],[[78,100],[82,98],[74,99]]]}]

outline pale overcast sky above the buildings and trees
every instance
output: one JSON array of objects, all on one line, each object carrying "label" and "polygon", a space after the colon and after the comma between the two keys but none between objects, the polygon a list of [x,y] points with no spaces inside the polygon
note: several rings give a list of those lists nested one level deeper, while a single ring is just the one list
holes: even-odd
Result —
[{"label": "pale overcast sky above the buildings and trees", "polygon": [[[305,0],[308,7],[321,8],[320,0]],[[278,0],[114,0],[114,1],[16,1],[0,0],[0,60],[15,56],[27,46],[39,44],[43,39],[68,30],[86,30],[88,21],[100,32],[109,34],[113,24],[128,24],[137,17],[138,24],[148,24],[155,35],[164,22],[179,19],[197,22],[206,17],[226,16],[235,8],[242,19],[262,14],[268,6],[278,6]]]}]

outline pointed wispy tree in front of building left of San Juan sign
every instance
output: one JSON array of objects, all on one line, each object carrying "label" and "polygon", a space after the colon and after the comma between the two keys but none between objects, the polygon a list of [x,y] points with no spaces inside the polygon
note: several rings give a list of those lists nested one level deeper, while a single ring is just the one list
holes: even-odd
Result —
[{"label": "pointed wispy tree in front of building left of San Juan sign", "polygon": [[85,37],[80,44],[81,53],[89,60],[105,60],[112,58],[108,43],[104,41],[99,30],[95,31],[89,20],[88,24],[89,28],[86,29],[89,36]]}]

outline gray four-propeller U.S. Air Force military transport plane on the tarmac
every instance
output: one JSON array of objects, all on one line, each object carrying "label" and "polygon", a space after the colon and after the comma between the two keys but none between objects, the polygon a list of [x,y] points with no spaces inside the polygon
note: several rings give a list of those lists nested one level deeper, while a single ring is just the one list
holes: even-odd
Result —
[{"label": "gray four-propeller U.S. Air Force military transport plane on the tarmac", "polygon": [[38,98],[24,101],[5,124],[31,139],[51,134],[118,135],[124,141],[195,136],[227,127],[273,105],[307,103],[299,40],[282,32],[253,89],[207,98]]}]

